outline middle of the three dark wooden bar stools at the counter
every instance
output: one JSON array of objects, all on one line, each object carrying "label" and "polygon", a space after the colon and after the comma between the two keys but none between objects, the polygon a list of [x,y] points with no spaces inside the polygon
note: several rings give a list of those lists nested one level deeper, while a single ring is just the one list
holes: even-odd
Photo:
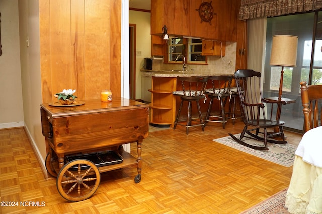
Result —
[{"label": "middle of the three dark wooden bar stools at the counter", "polygon": [[[212,88],[207,88],[205,90],[205,94],[208,95],[208,98],[210,98],[209,107],[206,115],[206,123],[207,122],[222,123],[222,127],[225,128],[225,124],[227,122],[226,113],[225,113],[225,104],[227,102],[227,98],[229,98],[230,100],[230,95],[231,95],[230,85],[231,85],[232,75],[210,76],[209,80],[211,80]],[[221,113],[219,114],[216,114],[216,113],[211,114],[214,98],[217,98],[220,102]]]}]

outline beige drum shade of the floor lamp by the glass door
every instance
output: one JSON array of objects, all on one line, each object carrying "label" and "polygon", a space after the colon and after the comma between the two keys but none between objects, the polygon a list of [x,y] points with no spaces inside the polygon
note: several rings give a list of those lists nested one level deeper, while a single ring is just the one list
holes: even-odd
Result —
[{"label": "beige drum shade of the floor lamp by the glass door", "polygon": [[297,36],[273,36],[270,65],[296,67]]}]

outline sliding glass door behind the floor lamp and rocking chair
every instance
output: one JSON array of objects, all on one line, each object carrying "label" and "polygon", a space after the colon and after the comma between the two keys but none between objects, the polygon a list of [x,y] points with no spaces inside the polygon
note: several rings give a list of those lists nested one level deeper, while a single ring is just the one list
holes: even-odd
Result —
[{"label": "sliding glass door behind the floor lamp and rocking chair", "polygon": [[[282,106],[281,120],[286,129],[302,132],[300,82],[322,84],[322,12],[267,18],[264,97],[278,96],[281,67],[269,64],[274,35],[298,36],[297,66],[284,67],[282,95],[296,102]],[[271,105],[267,107],[271,112]]]}]

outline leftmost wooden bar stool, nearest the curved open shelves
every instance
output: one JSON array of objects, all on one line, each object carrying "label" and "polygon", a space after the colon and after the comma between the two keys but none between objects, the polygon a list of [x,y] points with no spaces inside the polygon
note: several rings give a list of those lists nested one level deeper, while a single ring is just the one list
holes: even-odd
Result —
[{"label": "leftmost wooden bar stool, nearest the curved open shelves", "polygon": [[[202,131],[205,131],[205,123],[202,119],[201,109],[199,105],[199,100],[205,98],[205,89],[207,84],[208,77],[177,77],[178,84],[179,82],[182,85],[182,90],[174,91],[173,95],[180,96],[181,103],[176,116],[176,120],[174,122],[173,129],[176,129],[177,125],[182,125],[186,127],[186,134],[189,133],[189,128],[194,126],[201,126]],[[180,113],[182,110],[182,106],[184,101],[188,102],[188,115],[185,120],[179,120]],[[192,101],[195,101],[197,104],[198,114],[199,114],[199,123],[192,124],[192,121],[197,121],[195,118],[192,118],[191,107]],[[182,121],[187,121],[186,125],[181,123]]]}]

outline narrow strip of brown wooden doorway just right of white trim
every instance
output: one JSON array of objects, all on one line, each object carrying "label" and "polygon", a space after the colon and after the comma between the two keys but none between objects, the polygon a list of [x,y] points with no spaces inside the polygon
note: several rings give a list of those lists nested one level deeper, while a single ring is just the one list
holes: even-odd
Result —
[{"label": "narrow strip of brown wooden doorway just right of white trim", "polygon": [[136,24],[129,24],[129,85],[130,85],[130,99],[135,100],[135,82],[136,82]]}]

